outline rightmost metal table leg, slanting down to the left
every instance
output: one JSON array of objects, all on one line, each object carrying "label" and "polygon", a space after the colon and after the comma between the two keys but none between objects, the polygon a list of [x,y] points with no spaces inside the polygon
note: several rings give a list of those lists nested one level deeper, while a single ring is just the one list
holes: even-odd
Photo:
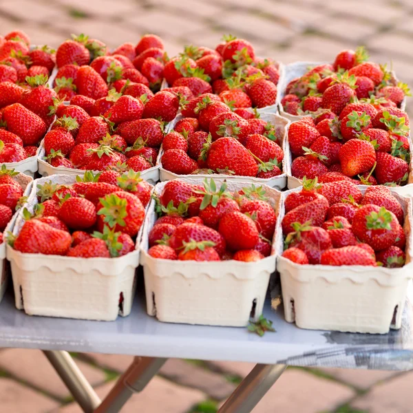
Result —
[{"label": "rightmost metal table leg, slanting down to the left", "polygon": [[257,364],[218,413],[250,413],[286,369],[285,364]]}]

